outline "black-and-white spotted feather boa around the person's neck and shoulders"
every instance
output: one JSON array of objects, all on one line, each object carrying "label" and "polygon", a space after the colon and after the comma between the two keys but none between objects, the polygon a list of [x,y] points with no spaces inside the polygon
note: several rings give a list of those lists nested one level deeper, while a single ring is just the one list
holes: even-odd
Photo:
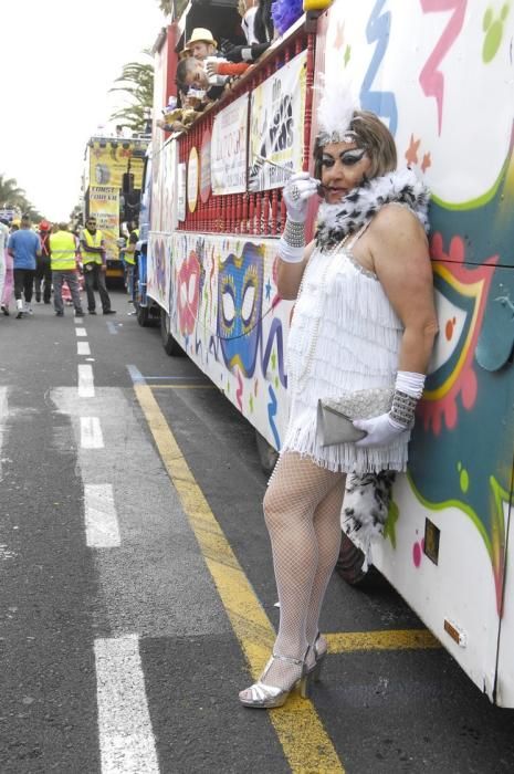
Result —
[{"label": "black-and-white spotted feather boa around the person's neck and shoulders", "polygon": [[319,206],[316,244],[331,248],[347,234],[359,230],[380,207],[396,201],[407,205],[428,231],[429,191],[418,175],[409,168],[366,180],[337,205]]}]

